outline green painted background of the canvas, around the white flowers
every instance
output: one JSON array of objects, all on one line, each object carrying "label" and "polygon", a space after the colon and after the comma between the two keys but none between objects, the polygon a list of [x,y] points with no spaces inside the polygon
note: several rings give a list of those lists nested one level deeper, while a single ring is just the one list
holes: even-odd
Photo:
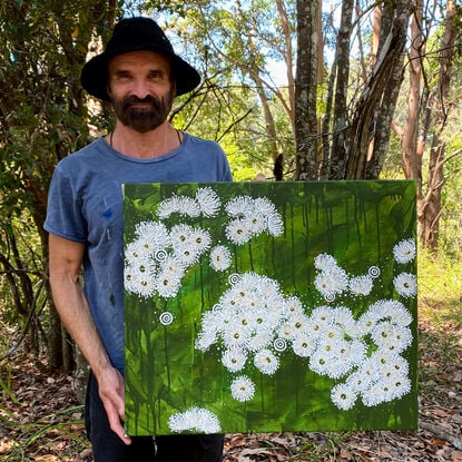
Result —
[{"label": "green painted background of the canvas, around the white flowers", "polygon": [[[283,432],[415,429],[416,297],[400,297],[393,286],[396,274],[416,273],[415,259],[399,265],[393,247],[415,239],[415,184],[413,181],[316,181],[246,184],[128,184],[125,195],[125,242],[135,238],[137,224],[156,220],[158,204],[173,195],[195,197],[199,187],[212,187],[222,205],[236,196],[267,197],[284,220],[284,234],[263,233],[248,244],[230,244],[225,234],[229,217],[180,217],[164,219],[209,230],[213,243],[226,245],[233,256],[220,273],[208,264],[208,253],[191,266],[174,298],[140,297],[126,291],[126,431],[129,435],[169,434],[168,419],[198,406],[219,419],[220,431]],[[316,289],[314,259],[320,254],[336,258],[348,275],[363,275],[371,266],[381,269],[367,296],[340,294],[327,303]],[[312,372],[307,358],[285,351],[279,367],[265,375],[249,363],[230,373],[222,362],[223,346],[206,352],[195,348],[201,331],[201,314],[212,309],[229,287],[232,273],[255,272],[279,283],[285,297],[296,295],[307,315],[316,306],[345,306],[357,318],[379,299],[399,299],[412,314],[413,341],[402,356],[407,361],[411,391],[400,400],[366,406],[361,400],[347,410],[336,407],[331,390],[342,380]],[[168,326],[159,315],[169,312]],[[256,385],[254,399],[233,399],[230,383],[245,373]],[[194,430],[193,430],[194,432]]]}]

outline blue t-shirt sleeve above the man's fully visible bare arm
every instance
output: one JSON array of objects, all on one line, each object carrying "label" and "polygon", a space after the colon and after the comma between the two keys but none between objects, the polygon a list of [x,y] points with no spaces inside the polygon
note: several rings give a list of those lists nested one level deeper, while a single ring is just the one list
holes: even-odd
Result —
[{"label": "blue t-shirt sleeve above the man's fully visible bare arm", "polygon": [[72,179],[58,165],[48,191],[45,229],[65,239],[87,242],[87,220],[82,214],[82,198]]}]

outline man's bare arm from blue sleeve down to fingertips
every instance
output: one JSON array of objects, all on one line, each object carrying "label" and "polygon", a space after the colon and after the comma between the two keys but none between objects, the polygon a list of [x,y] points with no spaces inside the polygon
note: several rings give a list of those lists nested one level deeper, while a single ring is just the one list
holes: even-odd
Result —
[{"label": "man's bare arm from blue sleeve down to fingertips", "polygon": [[99,395],[108,414],[111,430],[126,443],[120,421],[124,420],[124,377],[112,367],[90,314],[80,284],[85,245],[50,234],[50,285],[55,306],[87,358],[99,386]]}]

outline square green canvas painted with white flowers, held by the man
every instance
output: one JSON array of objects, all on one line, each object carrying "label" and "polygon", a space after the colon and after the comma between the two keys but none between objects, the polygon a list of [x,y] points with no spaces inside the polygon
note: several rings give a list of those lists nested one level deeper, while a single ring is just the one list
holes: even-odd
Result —
[{"label": "square green canvas painted with white flowers, held by the man", "polygon": [[124,185],[127,434],[415,429],[415,197]]}]

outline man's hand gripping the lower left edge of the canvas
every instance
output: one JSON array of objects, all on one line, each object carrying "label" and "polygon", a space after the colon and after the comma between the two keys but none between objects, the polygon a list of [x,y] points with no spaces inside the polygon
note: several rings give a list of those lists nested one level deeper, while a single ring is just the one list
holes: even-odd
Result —
[{"label": "man's hand gripping the lower left edge of the canvas", "polygon": [[125,385],[124,377],[114,367],[105,368],[99,376],[99,397],[108,414],[109,426],[125,444],[130,444],[131,439],[125,434],[122,422],[125,420]]}]

